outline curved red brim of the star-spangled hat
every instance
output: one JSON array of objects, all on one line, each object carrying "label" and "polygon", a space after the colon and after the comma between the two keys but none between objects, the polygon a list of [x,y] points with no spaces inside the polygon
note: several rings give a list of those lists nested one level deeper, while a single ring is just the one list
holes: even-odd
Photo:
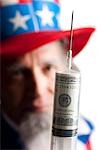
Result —
[{"label": "curved red brim of the star-spangled hat", "polygon": [[[83,49],[94,30],[94,28],[79,28],[73,30],[73,57]],[[68,41],[70,41],[70,30],[40,31],[11,37],[5,41],[2,41],[0,55],[20,56],[29,51],[35,50],[44,44],[61,38],[66,38]]]}]

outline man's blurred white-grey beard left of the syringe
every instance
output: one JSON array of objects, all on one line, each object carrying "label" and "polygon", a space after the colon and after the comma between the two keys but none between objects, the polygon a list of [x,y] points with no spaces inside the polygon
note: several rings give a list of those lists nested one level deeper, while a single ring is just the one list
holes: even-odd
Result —
[{"label": "man's blurred white-grey beard left of the syringe", "polygon": [[52,117],[46,113],[28,115],[20,126],[27,150],[50,150]]}]

